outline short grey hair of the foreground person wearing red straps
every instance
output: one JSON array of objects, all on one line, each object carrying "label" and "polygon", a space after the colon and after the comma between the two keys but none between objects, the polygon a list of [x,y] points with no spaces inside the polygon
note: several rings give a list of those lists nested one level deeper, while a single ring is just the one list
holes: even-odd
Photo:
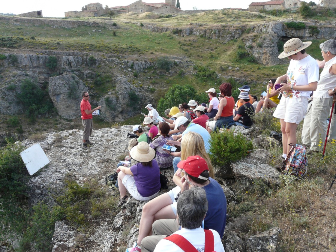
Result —
[{"label": "short grey hair of the foreground person wearing red straps", "polygon": [[187,229],[201,227],[208,211],[208,200],[201,187],[191,187],[184,191],[177,200],[178,224]]}]

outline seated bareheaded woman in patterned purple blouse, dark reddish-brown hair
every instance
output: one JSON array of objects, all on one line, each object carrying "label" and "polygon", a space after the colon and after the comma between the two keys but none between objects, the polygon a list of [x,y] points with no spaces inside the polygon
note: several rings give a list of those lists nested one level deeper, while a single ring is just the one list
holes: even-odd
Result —
[{"label": "seated bareheaded woman in patterned purple blouse, dark reddish-brown hair", "polygon": [[170,156],[169,153],[167,153],[165,150],[163,150],[161,147],[166,144],[169,140],[174,140],[169,135],[170,127],[168,123],[159,123],[159,132],[160,136],[156,139],[154,139],[150,143],[150,147],[155,150],[156,153],[156,160],[158,162],[158,165],[160,168],[168,168],[172,166],[174,156]]}]

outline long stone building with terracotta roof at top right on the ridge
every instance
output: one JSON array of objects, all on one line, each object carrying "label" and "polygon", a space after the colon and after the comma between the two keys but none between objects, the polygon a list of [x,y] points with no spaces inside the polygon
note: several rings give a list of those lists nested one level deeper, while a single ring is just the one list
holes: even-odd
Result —
[{"label": "long stone building with terracotta roof at top right on the ridge", "polygon": [[300,7],[302,2],[303,1],[300,0],[271,0],[267,2],[252,2],[250,3],[248,10],[252,12],[259,12],[259,10],[292,9]]}]

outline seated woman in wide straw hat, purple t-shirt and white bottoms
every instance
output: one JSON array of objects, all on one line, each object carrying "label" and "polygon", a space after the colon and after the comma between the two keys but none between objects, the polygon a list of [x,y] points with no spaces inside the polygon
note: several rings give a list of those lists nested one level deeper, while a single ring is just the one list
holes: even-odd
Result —
[{"label": "seated woman in wide straw hat, purple t-shirt and white bottoms", "polygon": [[131,157],[138,161],[132,167],[119,166],[118,185],[120,200],[118,207],[126,203],[126,190],[137,200],[145,201],[155,198],[161,188],[160,168],[155,157],[155,151],[146,142],[139,142],[130,151]]}]

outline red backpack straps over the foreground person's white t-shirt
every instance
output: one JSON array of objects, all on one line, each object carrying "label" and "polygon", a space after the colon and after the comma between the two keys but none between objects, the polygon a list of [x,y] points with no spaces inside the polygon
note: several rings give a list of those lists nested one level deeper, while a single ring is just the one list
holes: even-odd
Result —
[{"label": "red backpack straps over the foreground person's white t-shirt", "polygon": [[[207,229],[204,229],[204,233],[205,233],[204,252],[212,252],[215,249],[213,233],[211,232],[211,230]],[[181,235],[172,234],[164,239],[175,243],[185,252],[198,252],[198,250],[195,249],[195,247]]]}]

